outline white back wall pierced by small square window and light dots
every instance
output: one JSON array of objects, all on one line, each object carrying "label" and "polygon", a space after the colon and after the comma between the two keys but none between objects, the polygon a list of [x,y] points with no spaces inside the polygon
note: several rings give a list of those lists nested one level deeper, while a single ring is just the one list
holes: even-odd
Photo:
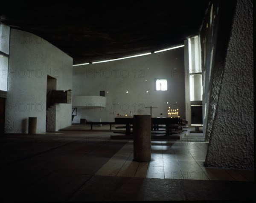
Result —
[{"label": "white back wall pierced by small square window and light dots", "polygon": [[[167,117],[168,107],[185,117],[184,49],[73,68],[73,96],[99,96],[105,91],[106,107],[78,108],[73,122],[114,121],[119,114],[150,114]],[[155,79],[167,79],[168,91],[156,91]],[[107,93],[108,91],[108,93]],[[128,91],[128,93],[126,93]],[[146,91],[149,91],[146,93]],[[169,102],[169,104],[167,104]],[[163,115],[161,115],[161,113]]]}]

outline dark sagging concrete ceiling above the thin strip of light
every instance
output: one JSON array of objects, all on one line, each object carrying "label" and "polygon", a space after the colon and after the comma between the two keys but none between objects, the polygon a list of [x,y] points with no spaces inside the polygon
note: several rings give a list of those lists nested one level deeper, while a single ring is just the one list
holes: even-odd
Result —
[{"label": "dark sagging concrete ceiling above the thin strip of light", "polygon": [[166,49],[198,34],[209,0],[5,1],[1,22],[49,41],[74,64]]}]

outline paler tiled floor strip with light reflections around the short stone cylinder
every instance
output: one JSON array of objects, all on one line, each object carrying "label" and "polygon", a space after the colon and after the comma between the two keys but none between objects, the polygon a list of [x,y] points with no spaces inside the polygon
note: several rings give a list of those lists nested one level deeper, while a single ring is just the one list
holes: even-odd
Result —
[{"label": "paler tiled floor strip with light reflections around the short stone cylinder", "polygon": [[133,141],[122,147],[95,174],[117,177],[146,177],[188,180],[254,181],[254,171],[204,166],[205,142],[152,141],[151,161],[133,161]]}]

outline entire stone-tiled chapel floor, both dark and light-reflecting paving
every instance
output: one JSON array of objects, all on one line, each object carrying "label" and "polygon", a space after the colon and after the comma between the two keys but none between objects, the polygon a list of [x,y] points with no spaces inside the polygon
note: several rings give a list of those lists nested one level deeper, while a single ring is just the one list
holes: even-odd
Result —
[{"label": "entire stone-tiled chapel floor, both dark and light-reflecting paving", "polygon": [[[133,141],[113,132],[0,137],[2,201],[253,200],[254,171],[204,167],[207,143],[189,134],[152,141],[133,161]],[[193,139],[191,139],[193,138]],[[195,138],[198,141],[195,141]],[[191,141],[192,140],[192,141]]]}]

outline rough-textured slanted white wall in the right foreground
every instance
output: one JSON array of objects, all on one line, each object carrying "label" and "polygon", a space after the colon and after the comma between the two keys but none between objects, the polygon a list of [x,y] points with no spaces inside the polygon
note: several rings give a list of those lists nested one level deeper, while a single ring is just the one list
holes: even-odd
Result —
[{"label": "rough-textured slanted white wall in the right foreground", "polygon": [[206,165],[254,169],[253,1],[237,1]]}]

